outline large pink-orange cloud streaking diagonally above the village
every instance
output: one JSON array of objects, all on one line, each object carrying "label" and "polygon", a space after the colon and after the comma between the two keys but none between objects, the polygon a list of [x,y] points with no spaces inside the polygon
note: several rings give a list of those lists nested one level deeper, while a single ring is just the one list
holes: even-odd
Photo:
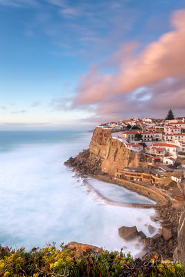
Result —
[{"label": "large pink-orange cloud streaking diagonally above the village", "polygon": [[[100,64],[91,66],[89,72],[80,80],[74,105],[101,103],[109,97],[131,93],[141,87],[150,87],[166,78],[182,76],[184,79],[185,10],[175,11],[171,23],[174,30],[161,35],[139,54],[135,51],[131,55],[131,46],[124,46],[121,49],[123,55],[119,56],[119,62],[116,61],[118,65],[114,73],[100,73],[106,69],[101,68]],[[114,58],[112,60],[114,62]],[[178,93],[183,95],[183,92]],[[172,100],[173,94],[170,93]]]}]

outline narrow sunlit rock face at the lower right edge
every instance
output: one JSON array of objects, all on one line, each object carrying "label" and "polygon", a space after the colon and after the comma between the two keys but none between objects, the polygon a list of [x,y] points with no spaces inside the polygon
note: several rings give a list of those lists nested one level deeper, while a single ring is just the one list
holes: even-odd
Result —
[{"label": "narrow sunlit rock face at the lower right edge", "polygon": [[182,265],[185,265],[185,211],[182,212],[182,215],[179,218],[177,243],[178,246],[175,249],[173,258],[174,260],[181,262]]}]

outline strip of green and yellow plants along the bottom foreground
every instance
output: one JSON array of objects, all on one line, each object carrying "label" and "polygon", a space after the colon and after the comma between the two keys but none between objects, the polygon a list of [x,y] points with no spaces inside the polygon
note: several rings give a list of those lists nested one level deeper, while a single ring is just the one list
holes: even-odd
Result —
[{"label": "strip of green and yellow plants along the bottom foreground", "polygon": [[185,276],[179,263],[163,261],[148,256],[145,261],[133,260],[118,251],[84,251],[78,253],[66,247],[55,246],[32,249],[26,252],[0,246],[0,276],[44,277],[44,276]]}]

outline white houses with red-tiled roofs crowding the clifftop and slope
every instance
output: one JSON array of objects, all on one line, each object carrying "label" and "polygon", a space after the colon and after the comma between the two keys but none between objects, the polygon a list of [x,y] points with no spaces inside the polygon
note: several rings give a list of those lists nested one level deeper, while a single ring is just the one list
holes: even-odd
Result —
[{"label": "white houses with red-tiled roofs crowding the clifftop and slope", "polygon": [[[117,170],[114,177],[145,182],[152,186],[168,184],[173,199],[183,201],[185,173],[185,118],[131,118],[100,124],[111,129],[112,139],[143,155],[146,168]],[[170,180],[170,186],[169,186]]]}]

